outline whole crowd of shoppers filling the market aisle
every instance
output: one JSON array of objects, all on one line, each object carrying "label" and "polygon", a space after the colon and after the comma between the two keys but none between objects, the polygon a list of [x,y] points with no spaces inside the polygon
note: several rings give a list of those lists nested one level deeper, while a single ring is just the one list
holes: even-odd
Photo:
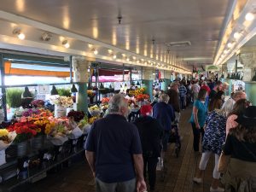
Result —
[{"label": "whole crowd of shoppers filling the market aisle", "polygon": [[[203,173],[211,155],[215,166],[211,192],[253,192],[255,172],[256,107],[250,107],[243,91],[224,101],[228,84],[220,81],[174,82],[166,93],[155,92],[155,99],[140,109],[134,123],[127,122],[128,104],[123,95],[113,96],[108,115],[91,127],[85,143],[85,154],[96,179],[97,192],[150,191],[156,183],[159,157],[166,164],[165,154],[170,133],[182,111],[193,103],[189,123],[192,126],[194,151],[201,161],[193,181],[203,183]],[[106,127],[108,125],[108,128]],[[223,148],[224,145],[224,148]],[[224,186],[219,183],[218,163],[221,155],[230,155],[229,172],[224,172]],[[240,167],[237,167],[240,166]],[[241,190],[241,184],[250,190]],[[240,190],[238,190],[240,189]],[[252,189],[252,190],[251,190]]]}]

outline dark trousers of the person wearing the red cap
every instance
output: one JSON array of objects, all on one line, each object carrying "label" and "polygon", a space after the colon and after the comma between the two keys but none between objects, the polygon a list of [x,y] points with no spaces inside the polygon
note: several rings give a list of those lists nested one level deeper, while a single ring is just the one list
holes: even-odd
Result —
[{"label": "dark trousers of the person wearing the red cap", "polygon": [[145,153],[143,154],[143,161],[144,161],[144,177],[146,177],[147,169],[148,169],[148,183],[149,183],[150,189],[154,189],[158,157],[153,157],[150,154]]}]

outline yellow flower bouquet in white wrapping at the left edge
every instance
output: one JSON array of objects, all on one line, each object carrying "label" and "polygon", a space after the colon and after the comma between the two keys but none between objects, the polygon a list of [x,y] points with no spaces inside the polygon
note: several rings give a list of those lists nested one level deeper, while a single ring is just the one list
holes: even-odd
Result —
[{"label": "yellow flower bouquet in white wrapping at the left edge", "polygon": [[15,131],[9,132],[7,129],[0,129],[0,166],[6,163],[5,149],[15,140]]}]

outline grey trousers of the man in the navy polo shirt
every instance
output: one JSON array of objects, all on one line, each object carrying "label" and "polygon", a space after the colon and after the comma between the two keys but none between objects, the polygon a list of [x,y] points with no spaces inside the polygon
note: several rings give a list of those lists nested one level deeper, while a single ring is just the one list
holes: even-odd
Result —
[{"label": "grey trousers of the man in the navy polo shirt", "polygon": [[96,177],[96,192],[136,192],[136,178],[120,183],[104,183]]}]

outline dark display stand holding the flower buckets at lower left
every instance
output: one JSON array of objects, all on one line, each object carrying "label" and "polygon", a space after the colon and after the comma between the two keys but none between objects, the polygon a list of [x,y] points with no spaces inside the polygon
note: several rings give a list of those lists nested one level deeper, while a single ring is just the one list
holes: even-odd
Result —
[{"label": "dark display stand holding the flower buckets at lower left", "polygon": [[[30,166],[27,166],[27,168],[23,170],[23,175],[19,175],[17,172],[17,165],[19,165],[18,160],[8,160],[6,164],[0,166],[0,192],[21,192],[22,189],[20,189],[20,186],[35,183],[40,179],[47,177],[50,170],[60,170],[64,165],[69,165],[75,156],[84,152],[83,146],[84,143],[80,143],[79,148],[73,150],[72,140],[67,141],[63,146],[53,145],[52,149],[57,151],[58,157],[56,158],[55,154],[53,154],[53,157],[50,160],[44,160],[44,157],[40,157],[40,154],[38,153],[28,154],[26,158],[30,162],[37,160],[42,161],[36,166],[31,166],[30,163]],[[45,156],[45,154],[43,154],[43,156]]]}]

